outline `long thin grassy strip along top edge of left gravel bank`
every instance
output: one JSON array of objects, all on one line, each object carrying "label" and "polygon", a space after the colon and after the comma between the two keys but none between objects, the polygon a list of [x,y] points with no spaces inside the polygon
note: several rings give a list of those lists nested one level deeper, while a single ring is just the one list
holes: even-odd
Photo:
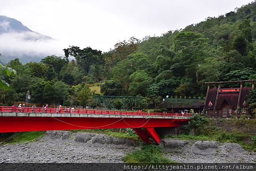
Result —
[{"label": "long thin grassy strip along top edge of left gravel bank", "polygon": [[89,132],[89,133],[103,133],[109,136],[115,136],[118,138],[125,138],[125,139],[133,139],[135,141],[140,141],[140,137],[137,134],[128,134],[123,132],[116,132],[108,129],[89,129],[89,130],[69,130],[73,133],[77,132]]}]

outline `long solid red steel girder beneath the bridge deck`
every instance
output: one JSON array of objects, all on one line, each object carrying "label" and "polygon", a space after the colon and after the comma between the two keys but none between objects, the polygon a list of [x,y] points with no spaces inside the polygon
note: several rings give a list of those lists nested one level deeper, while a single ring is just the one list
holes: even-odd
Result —
[{"label": "long solid red steel girder beneath the bridge deck", "polygon": [[1,116],[0,132],[177,127],[187,122],[189,119]]}]

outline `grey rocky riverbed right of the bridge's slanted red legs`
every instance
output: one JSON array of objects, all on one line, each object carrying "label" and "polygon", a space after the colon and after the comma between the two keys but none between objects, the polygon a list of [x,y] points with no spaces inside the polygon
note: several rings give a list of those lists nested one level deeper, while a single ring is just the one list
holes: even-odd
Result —
[{"label": "grey rocky riverbed right of the bridge's slanted red legs", "polygon": [[256,162],[255,152],[245,151],[236,143],[164,139],[161,145],[165,157],[177,162]]}]

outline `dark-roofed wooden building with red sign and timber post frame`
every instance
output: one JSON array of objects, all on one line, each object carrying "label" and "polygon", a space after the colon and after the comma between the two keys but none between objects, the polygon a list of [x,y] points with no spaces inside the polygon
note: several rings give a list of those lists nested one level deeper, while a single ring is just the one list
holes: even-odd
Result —
[{"label": "dark-roofed wooden building with red sign and timber post frame", "polygon": [[[202,113],[219,118],[239,117],[241,114],[250,115],[247,96],[250,90],[254,89],[254,81],[256,80],[207,82],[208,88]],[[240,87],[221,88],[221,84],[239,82]],[[252,87],[243,87],[243,82],[252,82]],[[210,89],[210,84],[218,84],[218,89]]]}]

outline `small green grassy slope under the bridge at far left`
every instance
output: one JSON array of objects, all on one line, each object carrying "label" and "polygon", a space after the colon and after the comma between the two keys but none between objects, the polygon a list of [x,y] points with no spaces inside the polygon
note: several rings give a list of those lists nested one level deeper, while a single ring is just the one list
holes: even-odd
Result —
[{"label": "small green grassy slope under the bridge at far left", "polygon": [[16,144],[18,142],[32,142],[42,136],[44,136],[45,131],[33,131],[33,132],[18,132],[12,138],[12,141],[9,144]]}]

